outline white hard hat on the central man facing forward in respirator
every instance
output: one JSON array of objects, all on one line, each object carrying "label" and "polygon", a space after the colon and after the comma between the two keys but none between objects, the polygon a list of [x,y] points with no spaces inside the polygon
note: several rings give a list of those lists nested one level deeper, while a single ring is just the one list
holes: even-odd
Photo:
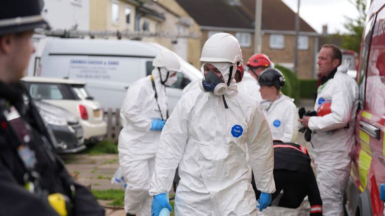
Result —
[{"label": "white hard hat on the central man facing forward in respirator", "polygon": [[229,33],[216,33],[205,42],[199,60],[235,63],[243,61],[242,50],[235,36]]}]

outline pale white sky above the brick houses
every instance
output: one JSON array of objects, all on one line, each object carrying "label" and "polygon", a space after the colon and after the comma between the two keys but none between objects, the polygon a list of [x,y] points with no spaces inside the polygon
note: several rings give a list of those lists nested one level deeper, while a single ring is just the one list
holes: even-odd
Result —
[{"label": "pale white sky above the brick houses", "polygon": [[[293,11],[297,11],[298,0],[282,1]],[[345,33],[347,32],[343,26],[346,21],[345,16],[357,18],[358,11],[349,0],[300,0],[299,15],[318,33],[322,33],[324,24],[328,26],[328,33],[337,31]]]}]

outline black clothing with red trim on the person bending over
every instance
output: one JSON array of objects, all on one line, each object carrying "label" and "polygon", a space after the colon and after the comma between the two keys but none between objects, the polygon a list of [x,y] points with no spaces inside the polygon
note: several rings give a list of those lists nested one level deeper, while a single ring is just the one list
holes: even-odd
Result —
[{"label": "black clothing with red trim on the person bending over", "polygon": [[[272,200],[283,190],[278,206],[297,208],[307,195],[311,206],[310,215],[318,216],[322,215],[322,200],[310,162],[305,147],[295,143],[274,142],[276,191],[272,194]],[[254,176],[252,185],[256,197],[259,197],[261,192],[255,186]]]}]

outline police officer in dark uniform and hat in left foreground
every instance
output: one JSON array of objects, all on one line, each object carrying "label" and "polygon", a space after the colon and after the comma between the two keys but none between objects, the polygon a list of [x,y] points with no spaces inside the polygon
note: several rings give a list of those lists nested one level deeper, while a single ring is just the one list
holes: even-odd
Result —
[{"label": "police officer in dark uniform and hat in left foreground", "polygon": [[52,150],[45,124],[19,83],[35,51],[33,30],[46,26],[40,3],[0,5],[0,215],[104,215]]}]

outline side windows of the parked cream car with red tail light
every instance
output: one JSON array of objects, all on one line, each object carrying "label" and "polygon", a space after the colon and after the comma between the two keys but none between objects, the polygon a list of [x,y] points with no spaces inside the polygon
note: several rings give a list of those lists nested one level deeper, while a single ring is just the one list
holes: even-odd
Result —
[{"label": "side windows of the parked cream car with red tail light", "polygon": [[61,83],[25,82],[34,99],[76,99],[71,91]]}]

